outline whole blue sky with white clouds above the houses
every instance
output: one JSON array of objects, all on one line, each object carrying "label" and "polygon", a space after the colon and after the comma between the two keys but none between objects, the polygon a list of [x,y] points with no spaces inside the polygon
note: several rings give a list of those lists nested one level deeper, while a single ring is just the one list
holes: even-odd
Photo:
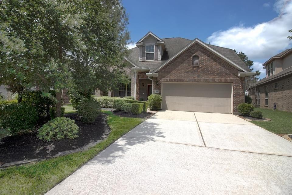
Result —
[{"label": "whole blue sky with white clouds above the houses", "polygon": [[134,42],[148,31],[160,38],[199,38],[243,51],[255,62],[254,69],[262,72],[263,62],[292,47],[292,41],[286,38],[292,28],[291,0],[122,2]]}]

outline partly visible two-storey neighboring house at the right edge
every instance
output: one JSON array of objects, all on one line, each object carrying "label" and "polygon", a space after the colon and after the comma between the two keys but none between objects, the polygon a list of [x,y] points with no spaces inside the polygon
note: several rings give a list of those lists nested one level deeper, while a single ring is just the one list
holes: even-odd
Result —
[{"label": "partly visible two-storey neighboring house at the right edge", "polygon": [[260,108],[274,108],[292,112],[292,48],[286,49],[263,63],[266,78],[259,80],[254,104]]}]

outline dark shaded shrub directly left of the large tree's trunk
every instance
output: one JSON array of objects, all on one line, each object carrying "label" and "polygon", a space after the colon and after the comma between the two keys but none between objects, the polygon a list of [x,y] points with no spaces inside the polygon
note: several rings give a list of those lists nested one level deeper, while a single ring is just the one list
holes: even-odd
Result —
[{"label": "dark shaded shrub directly left of the large tree's trunk", "polygon": [[[49,93],[54,97],[56,96],[56,92],[54,90],[50,90]],[[22,101],[33,105],[36,107],[36,111],[39,115],[50,115],[50,108],[56,106],[56,102],[54,99],[50,99],[42,96],[42,92],[39,90],[36,91],[28,91],[22,95]]]}]

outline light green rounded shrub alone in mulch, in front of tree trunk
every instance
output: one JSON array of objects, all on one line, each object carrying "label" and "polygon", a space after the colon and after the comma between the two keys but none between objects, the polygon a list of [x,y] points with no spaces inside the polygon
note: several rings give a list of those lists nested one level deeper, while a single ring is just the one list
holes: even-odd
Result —
[{"label": "light green rounded shrub alone in mulch, in front of tree trunk", "polygon": [[74,120],[56,117],[44,124],[38,131],[38,137],[46,141],[74,139],[78,137],[79,127]]}]

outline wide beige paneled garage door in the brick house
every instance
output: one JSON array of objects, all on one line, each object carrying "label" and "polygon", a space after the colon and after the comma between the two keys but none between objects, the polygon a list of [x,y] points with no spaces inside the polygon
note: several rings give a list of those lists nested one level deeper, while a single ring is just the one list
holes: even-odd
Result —
[{"label": "wide beige paneled garage door in the brick house", "polygon": [[162,109],[231,112],[231,83],[162,83]]}]

